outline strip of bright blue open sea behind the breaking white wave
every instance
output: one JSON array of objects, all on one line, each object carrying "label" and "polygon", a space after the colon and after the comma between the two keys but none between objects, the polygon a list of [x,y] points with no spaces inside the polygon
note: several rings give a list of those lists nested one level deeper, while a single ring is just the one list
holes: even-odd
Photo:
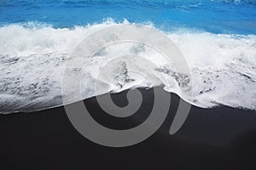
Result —
[{"label": "strip of bright blue open sea behind the breaking white wave", "polygon": [[256,1],[234,0],[2,0],[0,26],[38,22],[55,28],[112,18],[224,34],[256,34]]}]

